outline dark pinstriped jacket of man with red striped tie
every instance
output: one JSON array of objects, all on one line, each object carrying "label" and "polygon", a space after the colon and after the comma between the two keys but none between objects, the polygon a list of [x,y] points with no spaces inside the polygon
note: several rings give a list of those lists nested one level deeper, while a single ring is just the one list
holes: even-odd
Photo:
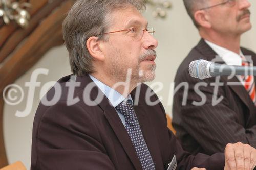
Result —
[{"label": "dark pinstriped jacket of man with red striped tie", "polygon": [[[244,55],[251,55],[256,61],[256,54],[241,48]],[[177,137],[181,140],[184,150],[193,154],[202,152],[214,154],[224,152],[227,143],[241,141],[256,147],[256,108],[246,89],[242,85],[228,85],[228,82],[239,82],[237,77],[228,80],[223,76],[220,82],[217,96],[223,96],[223,100],[213,106],[212,97],[215,78],[199,80],[192,78],[188,73],[191,61],[204,59],[211,61],[217,54],[208,46],[203,39],[198,43],[178,68],[175,84],[188,82],[187,104],[182,106],[184,88],[180,88],[174,96],[173,126],[177,131]],[[255,62],[254,62],[255,66]],[[255,78],[256,80],[256,78]],[[194,106],[193,101],[200,102],[201,96],[194,88],[198,82],[206,82],[207,86],[201,86],[199,90],[206,96],[206,103]]]}]

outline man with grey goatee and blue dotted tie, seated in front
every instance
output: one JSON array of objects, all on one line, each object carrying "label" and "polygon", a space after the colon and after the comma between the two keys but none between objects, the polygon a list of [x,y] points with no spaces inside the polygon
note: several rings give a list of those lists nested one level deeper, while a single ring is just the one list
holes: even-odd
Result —
[{"label": "man with grey goatee and blue dotted tie, seated in front", "polygon": [[[224,168],[223,153],[183,151],[156,94],[141,84],[155,77],[158,45],[139,12],[143,8],[138,0],[74,4],[63,22],[73,76],[60,79],[37,109],[32,170],[167,169],[171,160],[169,169]],[[59,91],[59,100],[45,104]],[[239,152],[249,162],[239,161]],[[227,170],[255,166],[249,145],[230,144],[225,154]]]}]

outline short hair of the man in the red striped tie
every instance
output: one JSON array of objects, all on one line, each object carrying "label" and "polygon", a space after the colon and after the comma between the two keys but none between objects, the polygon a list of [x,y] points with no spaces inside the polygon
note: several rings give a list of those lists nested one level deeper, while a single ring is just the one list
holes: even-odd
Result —
[{"label": "short hair of the man in the red striped tie", "polygon": [[197,23],[194,14],[200,8],[206,7],[207,1],[209,0],[183,0],[187,13],[197,28],[199,28],[200,25]]}]

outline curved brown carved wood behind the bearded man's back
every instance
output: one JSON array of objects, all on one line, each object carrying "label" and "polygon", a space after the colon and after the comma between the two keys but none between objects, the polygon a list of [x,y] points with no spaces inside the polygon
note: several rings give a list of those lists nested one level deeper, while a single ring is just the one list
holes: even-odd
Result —
[{"label": "curved brown carved wood behind the bearded man's back", "polygon": [[[20,0],[19,2],[25,2]],[[0,91],[28,71],[50,48],[63,44],[62,21],[74,0],[27,0],[31,19],[20,28],[0,18]],[[0,96],[0,167],[8,165],[3,136],[3,95]]]}]

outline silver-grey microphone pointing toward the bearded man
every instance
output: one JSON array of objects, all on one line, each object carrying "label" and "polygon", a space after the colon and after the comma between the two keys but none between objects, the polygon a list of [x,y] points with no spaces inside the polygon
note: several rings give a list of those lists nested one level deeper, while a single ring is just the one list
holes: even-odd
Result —
[{"label": "silver-grey microphone pointing toward the bearded man", "polygon": [[195,60],[189,64],[189,75],[198,79],[215,76],[256,75],[254,66],[234,66],[217,64],[206,60]]}]

